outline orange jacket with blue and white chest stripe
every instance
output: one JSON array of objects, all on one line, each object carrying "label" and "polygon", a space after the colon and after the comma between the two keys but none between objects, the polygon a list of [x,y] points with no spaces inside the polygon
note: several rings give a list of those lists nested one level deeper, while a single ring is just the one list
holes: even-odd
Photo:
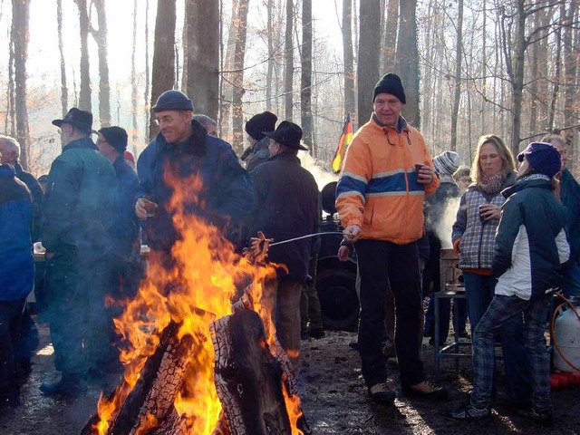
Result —
[{"label": "orange jacket with blue and white chest stripe", "polygon": [[430,185],[419,184],[416,164],[433,168],[420,132],[402,117],[398,130],[382,127],[372,118],[364,124],[346,150],[336,186],[336,209],[343,227],[358,225],[360,238],[397,245],[420,239],[423,199],[440,182],[433,174]]}]

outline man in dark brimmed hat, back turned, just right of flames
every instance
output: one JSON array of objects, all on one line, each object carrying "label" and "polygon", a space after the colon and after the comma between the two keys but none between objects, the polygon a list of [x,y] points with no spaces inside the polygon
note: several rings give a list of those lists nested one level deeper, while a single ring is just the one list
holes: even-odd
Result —
[{"label": "man in dark brimmed hat, back turned, just right of flames", "polygon": [[[312,234],[320,222],[318,188],[310,172],[300,166],[298,150],[302,129],[282,121],[270,138],[270,159],[250,172],[256,198],[250,220],[252,235],[263,231],[276,242]],[[267,285],[275,308],[276,335],[295,364],[300,354],[300,296],[308,274],[312,238],[271,247],[269,259],[285,265],[277,269],[277,279]]]}]

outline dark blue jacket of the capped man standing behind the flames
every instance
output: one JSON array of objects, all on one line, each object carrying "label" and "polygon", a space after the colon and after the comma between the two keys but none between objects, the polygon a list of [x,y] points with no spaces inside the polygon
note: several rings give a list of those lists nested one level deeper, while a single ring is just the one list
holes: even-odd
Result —
[{"label": "dark blue jacket of the capped man standing behind the flames", "polygon": [[243,238],[242,224],[254,204],[247,171],[240,166],[231,146],[208,136],[198,121],[191,121],[191,128],[189,139],[181,143],[167,143],[159,134],[137,160],[138,197],[153,195],[160,205],[155,216],[143,223],[147,243],[153,249],[169,250],[179,238],[168,210],[173,194],[172,186],[165,182],[168,176],[201,179],[198,193],[194,189],[186,192],[185,211],[219,227],[233,242]]}]

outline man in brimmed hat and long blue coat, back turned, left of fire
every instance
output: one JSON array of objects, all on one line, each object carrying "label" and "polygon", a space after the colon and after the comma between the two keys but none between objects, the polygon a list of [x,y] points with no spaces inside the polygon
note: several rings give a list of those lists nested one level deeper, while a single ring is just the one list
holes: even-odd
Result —
[{"label": "man in brimmed hat and long blue coat, back turned, left of fire", "polygon": [[117,178],[90,135],[92,113],[71,109],[60,127],[63,152],[53,161],[43,207],[47,317],[54,364],[63,377],[46,395],[73,396],[83,378],[111,358],[104,296],[111,287],[111,235]]}]

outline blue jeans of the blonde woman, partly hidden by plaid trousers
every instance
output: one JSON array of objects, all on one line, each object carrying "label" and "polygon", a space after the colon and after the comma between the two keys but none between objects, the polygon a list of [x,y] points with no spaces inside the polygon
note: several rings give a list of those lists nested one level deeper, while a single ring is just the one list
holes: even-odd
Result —
[{"label": "blue jeans of the blonde woman, partly hidden by plaid trousers", "polygon": [[[478,275],[469,272],[463,273],[463,280],[469,308],[471,340],[475,343],[474,332],[477,330],[479,321],[488,310],[488,306],[494,297],[498,280],[488,275]],[[521,311],[515,313],[504,322],[499,332],[499,337],[504,358],[507,396],[513,401],[528,398],[531,395],[532,376],[526,352]]]}]

